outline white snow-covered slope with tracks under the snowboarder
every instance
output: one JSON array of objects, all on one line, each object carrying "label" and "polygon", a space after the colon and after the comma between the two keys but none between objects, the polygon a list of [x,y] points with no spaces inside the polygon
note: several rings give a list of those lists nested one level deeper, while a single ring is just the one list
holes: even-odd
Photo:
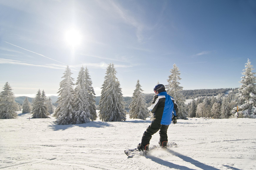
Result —
[{"label": "white snow-covered slope with tracks under the snowboarder", "polygon": [[[55,125],[55,119],[0,120],[0,168],[39,170],[239,170],[256,169],[256,119],[178,120],[168,129],[177,148],[128,158],[150,122]],[[159,134],[151,139],[157,144]]]}]

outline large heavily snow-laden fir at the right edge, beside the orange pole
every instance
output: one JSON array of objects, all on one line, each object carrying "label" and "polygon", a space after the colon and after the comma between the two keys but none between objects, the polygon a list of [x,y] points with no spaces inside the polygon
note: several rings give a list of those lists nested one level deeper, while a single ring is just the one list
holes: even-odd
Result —
[{"label": "large heavily snow-laden fir at the right edge, beside the orange pole", "polygon": [[[256,118],[256,77],[253,65],[248,59],[242,72],[242,85],[238,89],[239,115],[244,118]],[[237,117],[236,108],[233,109],[234,116]]]}]

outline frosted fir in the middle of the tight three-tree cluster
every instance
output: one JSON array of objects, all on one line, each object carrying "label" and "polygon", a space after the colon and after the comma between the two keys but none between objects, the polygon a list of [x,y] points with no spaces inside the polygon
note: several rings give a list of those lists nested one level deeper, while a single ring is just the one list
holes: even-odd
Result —
[{"label": "frosted fir in the middle of the tight three-tree cluster", "polygon": [[74,100],[74,124],[84,124],[90,122],[91,114],[89,111],[88,93],[85,84],[84,67],[81,67],[75,88]]}]

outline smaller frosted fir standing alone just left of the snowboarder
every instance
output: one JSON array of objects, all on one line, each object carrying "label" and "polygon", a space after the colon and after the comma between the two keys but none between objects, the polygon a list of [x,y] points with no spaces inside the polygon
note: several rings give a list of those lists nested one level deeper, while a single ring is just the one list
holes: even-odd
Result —
[{"label": "smaller frosted fir standing alone just left of the snowboarder", "polygon": [[132,95],[132,102],[129,105],[130,118],[146,120],[149,116],[149,110],[146,106],[143,90],[141,89],[140,81],[137,80],[135,90]]}]

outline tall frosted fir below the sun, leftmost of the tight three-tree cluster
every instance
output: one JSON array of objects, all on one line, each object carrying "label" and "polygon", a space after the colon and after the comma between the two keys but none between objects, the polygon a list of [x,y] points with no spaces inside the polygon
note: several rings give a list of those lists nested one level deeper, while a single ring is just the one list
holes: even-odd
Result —
[{"label": "tall frosted fir below the sun, leftmost of the tight three-tree cluster", "polygon": [[65,72],[63,73],[63,80],[60,82],[59,95],[60,96],[56,103],[58,107],[55,110],[54,116],[57,117],[58,125],[69,125],[73,123],[73,117],[75,110],[73,109],[74,101],[74,78],[71,77],[71,70],[67,65]]}]

